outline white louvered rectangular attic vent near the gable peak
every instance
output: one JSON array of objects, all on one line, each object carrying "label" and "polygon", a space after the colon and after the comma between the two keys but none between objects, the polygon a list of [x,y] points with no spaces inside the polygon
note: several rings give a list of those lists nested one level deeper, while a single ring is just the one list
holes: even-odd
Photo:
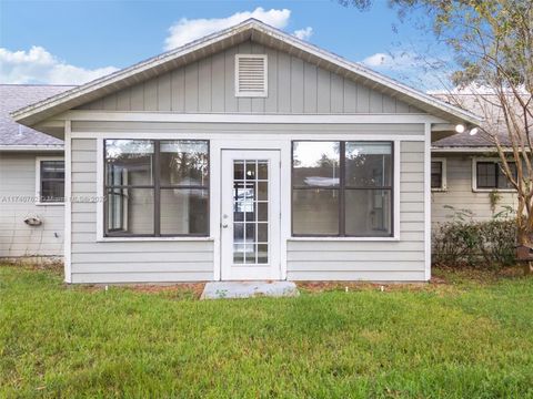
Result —
[{"label": "white louvered rectangular attic vent near the gable peak", "polygon": [[266,96],[266,55],[235,55],[235,95]]}]

